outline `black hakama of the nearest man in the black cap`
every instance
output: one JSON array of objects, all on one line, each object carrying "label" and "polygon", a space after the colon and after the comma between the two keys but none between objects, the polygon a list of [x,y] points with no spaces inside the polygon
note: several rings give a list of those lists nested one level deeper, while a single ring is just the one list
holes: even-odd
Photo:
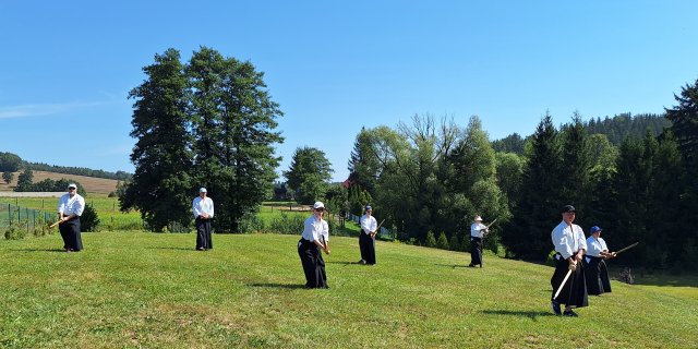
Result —
[{"label": "black hakama of the nearest man in the black cap", "polygon": [[553,277],[550,279],[550,285],[553,287],[553,294],[551,299],[568,306],[581,308],[589,305],[583,263],[577,263],[577,269],[571,272],[571,275],[569,275],[569,278],[565,282],[563,290],[559,292],[557,298],[553,298],[555,297],[557,288],[565,279],[567,270],[569,270],[569,262],[563,258],[559,253],[555,254],[555,273],[553,273]]}]

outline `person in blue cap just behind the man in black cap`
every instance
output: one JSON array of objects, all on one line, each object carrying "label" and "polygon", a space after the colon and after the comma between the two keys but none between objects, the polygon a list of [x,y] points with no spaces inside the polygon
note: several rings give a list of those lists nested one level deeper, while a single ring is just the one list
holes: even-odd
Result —
[{"label": "person in blue cap just behind the man in black cap", "polygon": [[585,257],[587,291],[594,296],[611,292],[611,280],[605,260],[615,256],[615,252],[610,252],[606,242],[601,238],[602,230],[598,226],[593,226],[589,230],[591,236],[587,239],[587,256]]}]

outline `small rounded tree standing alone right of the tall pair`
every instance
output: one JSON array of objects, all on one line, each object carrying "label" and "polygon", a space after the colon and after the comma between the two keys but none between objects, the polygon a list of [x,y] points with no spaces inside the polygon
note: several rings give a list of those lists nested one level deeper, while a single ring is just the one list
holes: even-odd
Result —
[{"label": "small rounded tree standing alone right of the tall pair", "polygon": [[332,164],[325,153],[313,147],[297,148],[288,171],[284,171],[288,186],[296,191],[296,201],[312,204],[324,197],[332,179]]}]

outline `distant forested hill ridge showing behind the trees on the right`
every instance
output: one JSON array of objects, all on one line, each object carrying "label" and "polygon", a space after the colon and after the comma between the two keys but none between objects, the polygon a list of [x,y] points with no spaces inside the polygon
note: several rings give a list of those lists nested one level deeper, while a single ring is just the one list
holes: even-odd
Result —
[{"label": "distant forested hill ridge showing behind the trees on the right", "polygon": [[[582,122],[587,134],[605,134],[611,144],[619,146],[623,140],[627,136],[630,139],[643,137],[649,130],[650,134],[658,136],[664,132],[665,128],[671,127],[664,115],[658,113],[638,113],[630,115],[621,113],[613,118],[605,117],[591,118],[591,120]],[[566,128],[568,124],[563,124],[561,129]],[[516,153],[518,155],[524,154],[524,144],[530,139],[531,135],[526,139],[521,137],[518,133],[512,133],[502,140],[492,142],[492,147],[495,152]]]}]

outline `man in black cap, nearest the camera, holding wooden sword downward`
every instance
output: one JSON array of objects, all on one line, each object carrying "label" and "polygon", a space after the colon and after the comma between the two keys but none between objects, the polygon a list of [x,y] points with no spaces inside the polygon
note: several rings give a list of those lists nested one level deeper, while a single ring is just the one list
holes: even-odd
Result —
[{"label": "man in black cap, nearest the camera, holding wooden sword downward", "polygon": [[[585,269],[581,260],[587,251],[587,239],[581,227],[573,225],[577,213],[573,205],[563,207],[561,221],[551,233],[555,245],[555,272],[550,279],[553,286],[551,306],[555,315],[577,316],[571,309],[589,305],[587,297],[587,282],[585,280]],[[567,272],[570,270],[569,278],[565,280]],[[564,285],[563,285],[564,281]],[[557,297],[555,292],[563,285]],[[559,304],[565,304],[565,311],[561,312]]]}]

